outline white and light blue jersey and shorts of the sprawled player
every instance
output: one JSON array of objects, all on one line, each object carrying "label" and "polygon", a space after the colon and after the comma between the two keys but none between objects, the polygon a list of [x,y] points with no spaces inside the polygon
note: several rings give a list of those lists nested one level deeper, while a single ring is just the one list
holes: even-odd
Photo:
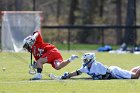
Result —
[{"label": "white and light blue jersey and shorts of the sprawled player", "polygon": [[132,72],[123,70],[117,66],[110,66],[109,68],[100,62],[94,61],[90,63],[91,66],[82,66],[79,71],[90,75],[93,79],[130,79]]}]

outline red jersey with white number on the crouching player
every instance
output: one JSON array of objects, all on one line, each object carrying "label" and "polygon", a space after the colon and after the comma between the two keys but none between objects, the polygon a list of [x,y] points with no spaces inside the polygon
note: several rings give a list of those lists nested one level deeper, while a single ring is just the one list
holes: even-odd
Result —
[{"label": "red jersey with white number on the crouching player", "polygon": [[34,32],[34,34],[35,33],[38,33],[39,35],[37,36],[36,41],[32,46],[32,53],[34,55],[34,58],[38,60],[48,50],[54,49],[56,47],[50,43],[44,43],[39,31]]}]

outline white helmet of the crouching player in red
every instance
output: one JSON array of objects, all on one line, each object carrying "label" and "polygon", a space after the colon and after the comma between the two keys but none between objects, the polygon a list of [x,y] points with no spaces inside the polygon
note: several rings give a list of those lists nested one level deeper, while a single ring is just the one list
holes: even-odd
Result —
[{"label": "white helmet of the crouching player in red", "polygon": [[29,35],[23,40],[23,48],[27,49],[29,52],[32,48],[32,45],[34,44],[34,40],[32,39],[32,36]]}]

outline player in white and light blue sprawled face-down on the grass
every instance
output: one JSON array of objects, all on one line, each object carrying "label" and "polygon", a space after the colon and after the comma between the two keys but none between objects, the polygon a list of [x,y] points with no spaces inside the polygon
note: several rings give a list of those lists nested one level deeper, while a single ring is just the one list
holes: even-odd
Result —
[{"label": "player in white and light blue sprawled face-down on the grass", "polygon": [[[140,77],[140,66],[134,67],[131,71],[121,69],[117,66],[107,67],[95,59],[95,53],[85,53],[82,56],[82,67],[74,72],[65,72],[59,79],[68,79],[73,76],[86,73],[92,77],[93,80],[102,79],[138,79]],[[50,78],[54,79],[53,74]],[[56,78],[56,77],[55,77]]]}]

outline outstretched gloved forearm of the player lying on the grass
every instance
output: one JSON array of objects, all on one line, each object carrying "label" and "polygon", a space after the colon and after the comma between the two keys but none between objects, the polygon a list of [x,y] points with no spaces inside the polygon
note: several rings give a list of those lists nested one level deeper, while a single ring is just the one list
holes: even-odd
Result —
[{"label": "outstretched gloved forearm of the player lying on the grass", "polygon": [[74,77],[74,76],[78,76],[78,75],[81,75],[81,74],[82,74],[82,72],[80,70],[76,70],[76,71],[71,72],[71,73],[65,72],[63,74],[63,76],[61,76],[61,79],[68,79],[68,78],[71,78],[71,77]]}]

